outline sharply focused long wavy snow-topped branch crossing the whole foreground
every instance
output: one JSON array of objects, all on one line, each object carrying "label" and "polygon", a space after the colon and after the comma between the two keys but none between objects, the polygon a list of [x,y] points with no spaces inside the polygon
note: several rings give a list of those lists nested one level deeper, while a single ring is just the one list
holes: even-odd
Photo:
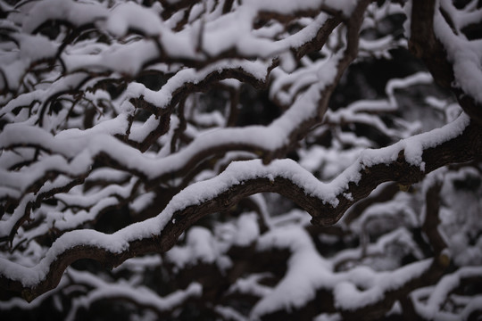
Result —
[{"label": "sharply focused long wavy snow-topped branch crossing the whole foreground", "polygon": [[[450,133],[442,135],[442,133]],[[435,144],[434,136],[442,136]],[[413,148],[420,146],[419,163]],[[465,115],[441,129],[413,136],[378,151],[367,151],[358,162],[328,184],[318,181],[295,161],[235,162],[218,177],[188,186],[155,218],[112,234],[80,230],[59,237],[33,268],[0,259],[0,286],[33,300],[56,286],[62,272],[77,259],[96,259],[107,267],[152,251],[168,251],[187,227],[204,216],[228,210],[254,193],[280,193],[312,215],[312,223],[330,225],[354,202],[377,185],[396,181],[410,185],[428,172],[453,162],[473,160],[482,152],[482,130]],[[421,169],[425,166],[425,169]],[[218,186],[218,187],[216,187]],[[220,187],[219,187],[220,186]]]}]

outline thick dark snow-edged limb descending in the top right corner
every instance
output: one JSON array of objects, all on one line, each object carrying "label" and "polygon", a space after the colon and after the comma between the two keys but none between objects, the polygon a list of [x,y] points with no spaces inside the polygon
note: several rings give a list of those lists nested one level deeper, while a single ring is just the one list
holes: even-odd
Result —
[{"label": "thick dark snow-edged limb descending in the top right corner", "polygon": [[[451,1],[430,0],[411,5],[411,51],[420,57],[436,83],[453,90],[461,107],[470,117],[482,121],[481,43],[466,36],[464,23],[480,19],[480,12],[469,5],[460,10]],[[467,22],[461,22],[467,21]]]}]

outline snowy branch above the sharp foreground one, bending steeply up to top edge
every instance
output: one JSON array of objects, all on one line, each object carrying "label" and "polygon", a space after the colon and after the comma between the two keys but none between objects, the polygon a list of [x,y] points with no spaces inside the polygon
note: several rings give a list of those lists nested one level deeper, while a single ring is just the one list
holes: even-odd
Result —
[{"label": "snowy branch above the sharp foreground one, bending steeply up to top edge", "polygon": [[[193,166],[195,166],[195,164],[204,160],[207,156],[211,156],[212,154],[220,152],[228,152],[229,150],[245,150],[249,152],[262,151],[262,154],[264,155],[263,161],[266,163],[278,157],[283,157],[286,152],[289,151],[293,147],[293,145],[296,144],[296,142],[298,142],[299,139],[306,135],[306,133],[312,128],[312,126],[320,123],[325,112],[327,111],[328,100],[331,93],[335,89],[335,86],[337,85],[338,80],[342,77],[345,69],[351,62],[353,62],[353,59],[356,57],[356,53],[358,51],[358,32],[362,23],[363,12],[365,11],[364,9],[369,3],[370,1],[364,1],[358,4],[357,10],[355,11],[356,14],[353,14],[351,20],[348,21],[347,45],[345,48],[345,52],[341,55],[334,56],[325,65],[322,66],[323,68],[320,71],[324,71],[330,76],[324,79],[320,79],[320,83],[312,85],[306,91],[306,93],[304,93],[304,97],[298,100],[290,108],[290,110],[283,114],[282,117],[276,119],[273,123],[271,123],[269,127],[226,128],[223,129],[222,133],[218,131],[216,133],[212,133],[210,136],[205,135],[200,140],[195,140],[183,151],[177,154],[173,154],[170,157],[164,158],[162,162],[164,162],[166,166],[162,166],[162,164],[156,160],[156,170],[154,170],[154,173],[152,170],[152,166],[144,166],[145,169],[139,169],[133,168],[131,161],[129,161],[129,164],[126,164],[125,161],[128,154],[130,158],[137,159],[138,164],[147,165],[147,163],[151,162],[152,160],[148,161],[147,159],[139,157],[139,154],[135,153],[137,151],[129,151],[126,146],[119,144],[119,142],[117,141],[112,141],[108,139],[110,137],[105,137],[106,139],[98,137],[96,139],[96,141],[103,140],[104,146],[102,144],[96,144],[96,147],[94,148],[92,148],[92,146],[89,146],[87,148],[89,150],[96,150],[95,152],[89,152],[91,153],[90,162],[92,162],[96,157],[98,157],[99,160],[104,159],[105,161],[105,155],[107,155],[106,163],[111,163],[113,166],[120,169],[126,169],[127,171],[132,172],[134,175],[148,178],[148,180],[151,181],[153,184],[158,184],[166,176],[171,177],[172,175],[185,174],[185,171],[188,171],[188,169],[192,168]],[[321,28],[325,26],[326,25],[323,24]],[[328,25],[328,29],[330,28],[334,28],[334,26]],[[270,68],[268,68],[267,71],[269,73]],[[331,76],[332,74],[333,76]],[[228,76],[236,77],[236,75]],[[241,77],[239,75],[237,76]],[[162,99],[164,100],[165,98]],[[143,102],[145,102],[145,99],[143,100]],[[147,103],[145,104],[147,105]],[[152,103],[150,103],[149,105],[154,106]],[[157,110],[157,107],[155,108]],[[37,143],[34,144],[25,141],[25,136],[17,136],[13,133],[18,130],[25,130],[26,128],[8,129],[12,130],[12,132],[9,135],[4,134],[4,137],[1,137],[4,139],[0,138],[1,145],[4,148],[25,146],[25,144],[29,144],[29,146],[38,145],[40,148],[46,151],[58,152],[64,156],[67,156],[68,158],[71,158],[72,155],[79,155],[79,153],[83,152],[81,151],[81,146],[86,146],[87,142],[91,141],[87,138],[85,141],[79,142],[79,146],[76,146],[77,148],[73,147],[73,150],[76,150],[77,152],[72,151],[72,146],[70,142],[68,144],[66,144],[67,142],[62,142],[61,144],[64,147],[67,147],[67,145],[69,145],[69,147],[67,147],[67,150],[70,151],[66,154],[65,151],[62,151],[62,148],[59,148],[58,144],[60,142],[54,143],[55,139],[52,139],[52,137],[46,135],[46,133],[41,133],[39,129],[28,128],[28,130],[31,130],[32,133],[34,133],[35,131],[34,135],[38,135],[44,138],[44,141],[42,141],[41,139],[38,139],[38,137],[36,137],[35,141]],[[256,139],[253,139],[253,136],[266,137],[266,139],[262,141],[256,141]],[[236,137],[236,139],[227,140],[227,138],[229,137]],[[107,141],[109,141],[109,143],[107,143]],[[203,146],[204,148],[200,149],[199,145]],[[116,148],[113,148],[112,146],[115,146]],[[110,152],[106,150],[110,150]],[[122,151],[124,155],[122,157],[116,157],[119,156],[120,151]],[[112,155],[114,156],[112,157]],[[71,169],[71,166],[67,165],[66,161],[61,161],[62,166],[68,168],[68,170],[63,171],[67,176],[75,177],[79,175],[72,173],[78,170],[69,170]],[[87,169],[90,167],[91,164],[83,165],[84,168]],[[50,170],[50,172],[52,174],[52,172],[55,172],[55,170]],[[59,172],[62,173],[62,169]],[[157,172],[157,174],[155,172]],[[38,182],[44,182],[46,180],[46,177],[44,177],[43,179],[44,180],[42,180],[41,177],[30,178],[30,183],[23,184],[23,186],[21,187],[22,193],[24,193],[25,190],[30,187],[30,185]]]}]

